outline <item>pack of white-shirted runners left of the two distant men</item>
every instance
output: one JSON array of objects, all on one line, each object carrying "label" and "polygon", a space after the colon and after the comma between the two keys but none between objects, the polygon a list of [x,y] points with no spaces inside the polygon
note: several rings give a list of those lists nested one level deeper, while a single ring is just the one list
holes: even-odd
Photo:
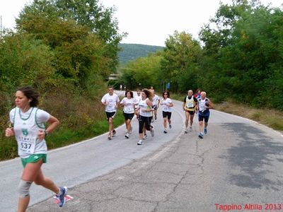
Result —
[{"label": "pack of white-shirted runners left of the two distant men", "polygon": [[125,137],[129,139],[129,135],[132,133],[132,119],[134,114],[139,120],[139,141],[137,145],[144,143],[146,138],[146,131],[150,131],[151,136],[154,136],[154,126],[151,124],[157,119],[157,110],[159,105],[161,105],[163,110],[163,126],[164,133],[167,133],[167,122],[171,129],[171,107],[173,107],[173,102],[170,99],[170,93],[168,91],[163,92],[163,98],[159,98],[155,94],[154,88],[137,90],[137,95],[131,90],[126,90],[125,98],[120,102],[117,94],[114,93],[112,87],[108,88],[108,93],[103,95],[101,102],[105,105],[105,112],[108,119],[108,140],[111,140],[115,136],[115,129],[113,127],[113,119],[117,112],[119,106],[123,107],[123,114],[125,117],[126,124],[126,134]]}]

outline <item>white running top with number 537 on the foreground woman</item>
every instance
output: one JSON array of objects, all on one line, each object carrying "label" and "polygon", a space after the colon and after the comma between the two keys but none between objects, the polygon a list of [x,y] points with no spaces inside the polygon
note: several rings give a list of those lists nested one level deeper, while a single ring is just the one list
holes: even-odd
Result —
[{"label": "white running top with number 537 on the foreground woman", "polygon": [[18,155],[21,158],[28,158],[33,154],[46,154],[45,139],[37,139],[37,135],[40,130],[45,131],[45,122],[50,119],[50,114],[37,107],[30,107],[27,112],[22,112],[16,107],[9,115],[18,142]]}]

